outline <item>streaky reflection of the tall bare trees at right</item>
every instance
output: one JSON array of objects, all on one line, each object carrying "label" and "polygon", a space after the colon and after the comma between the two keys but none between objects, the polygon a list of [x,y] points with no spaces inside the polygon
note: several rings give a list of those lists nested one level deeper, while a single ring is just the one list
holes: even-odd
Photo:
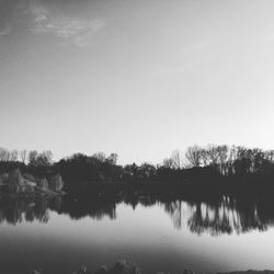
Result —
[{"label": "streaky reflection of the tall bare trees at right", "polygon": [[[182,217],[182,203],[191,206],[190,217]],[[274,202],[271,199],[235,198],[222,196],[219,202],[172,202],[165,204],[174,227],[185,222],[197,235],[218,236],[232,232],[243,233],[250,230],[266,230],[274,225]]]}]

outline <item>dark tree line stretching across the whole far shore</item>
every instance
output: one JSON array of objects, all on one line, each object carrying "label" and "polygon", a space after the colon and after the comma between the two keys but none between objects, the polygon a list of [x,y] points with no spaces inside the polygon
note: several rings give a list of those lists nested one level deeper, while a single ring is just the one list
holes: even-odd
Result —
[{"label": "dark tree line stretching across the whole far shore", "polygon": [[227,178],[252,174],[274,175],[274,150],[243,146],[191,146],[174,150],[162,163],[117,163],[117,153],[92,156],[73,153],[58,162],[50,150],[8,150],[0,148],[0,172],[19,167],[30,173],[59,172],[68,182],[173,182],[193,178]]}]

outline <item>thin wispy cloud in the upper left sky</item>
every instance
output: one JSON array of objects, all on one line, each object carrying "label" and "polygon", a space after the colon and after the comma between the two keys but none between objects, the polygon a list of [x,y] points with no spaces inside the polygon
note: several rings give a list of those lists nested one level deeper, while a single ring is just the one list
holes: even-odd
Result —
[{"label": "thin wispy cloud in the upper left sky", "polygon": [[80,47],[105,27],[104,20],[68,16],[43,5],[32,4],[30,11],[33,15],[33,33],[52,34]]}]

